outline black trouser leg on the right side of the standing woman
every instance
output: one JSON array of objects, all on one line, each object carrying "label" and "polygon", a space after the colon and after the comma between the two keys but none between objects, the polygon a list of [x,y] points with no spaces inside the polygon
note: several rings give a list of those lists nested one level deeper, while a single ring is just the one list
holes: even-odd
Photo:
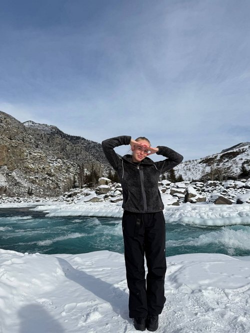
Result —
[{"label": "black trouser leg on the right side of the standing woman", "polygon": [[162,312],[164,280],[166,272],[165,258],[165,220],[163,212],[147,214],[144,220],[145,257],[148,273],[146,276],[146,295],[148,314],[155,316]]}]

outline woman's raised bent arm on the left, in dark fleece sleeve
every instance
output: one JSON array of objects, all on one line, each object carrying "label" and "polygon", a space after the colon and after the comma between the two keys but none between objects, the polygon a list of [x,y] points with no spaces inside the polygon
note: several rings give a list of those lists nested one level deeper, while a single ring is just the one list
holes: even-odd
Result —
[{"label": "woman's raised bent arm on the left, in dark fleece sleeve", "polygon": [[129,145],[131,140],[131,136],[128,135],[121,135],[116,136],[114,138],[106,139],[101,142],[103,152],[106,156],[106,159],[110,163],[110,165],[114,168],[114,170],[118,169],[119,157],[113,150],[113,148],[122,146],[122,145]]}]

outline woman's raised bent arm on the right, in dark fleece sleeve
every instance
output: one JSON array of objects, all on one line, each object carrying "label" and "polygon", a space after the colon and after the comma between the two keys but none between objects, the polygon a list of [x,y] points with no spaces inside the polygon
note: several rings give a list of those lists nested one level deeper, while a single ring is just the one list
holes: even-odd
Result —
[{"label": "woman's raised bent arm on the right, in dark fleece sleeve", "polygon": [[156,152],[157,155],[162,155],[164,157],[167,157],[163,161],[158,161],[154,163],[156,168],[160,170],[160,173],[164,173],[167,170],[174,168],[183,160],[183,156],[177,153],[176,151],[172,150],[171,148],[165,146],[157,146],[157,148],[158,148],[158,151]]}]

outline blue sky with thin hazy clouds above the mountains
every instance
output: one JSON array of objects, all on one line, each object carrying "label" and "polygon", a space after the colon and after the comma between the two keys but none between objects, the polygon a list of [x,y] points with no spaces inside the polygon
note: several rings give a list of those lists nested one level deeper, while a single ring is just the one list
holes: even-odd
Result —
[{"label": "blue sky with thin hazy clouds above the mountains", "polygon": [[249,12],[248,0],[0,0],[0,110],[97,142],[146,136],[184,160],[250,141]]}]

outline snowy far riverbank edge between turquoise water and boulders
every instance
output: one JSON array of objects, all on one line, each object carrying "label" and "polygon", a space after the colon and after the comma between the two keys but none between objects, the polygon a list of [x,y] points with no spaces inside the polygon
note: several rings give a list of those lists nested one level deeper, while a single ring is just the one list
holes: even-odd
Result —
[{"label": "snowy far riverbank edge between turquoise water and boulders", "polygon": [[[200,226],[250,225],[250,204],[214,205],[213,203],[180,203],[179,206],[167,205],[167,196],[162,195],[166,223],[178,222]],[[166,202],[165,202],[166,200]],[[121,202],[40,202],[40,203],[4,203],[0,208],[29,207],[43,211],[47,217],[55,216],[95,216],[121,218]]]}]

